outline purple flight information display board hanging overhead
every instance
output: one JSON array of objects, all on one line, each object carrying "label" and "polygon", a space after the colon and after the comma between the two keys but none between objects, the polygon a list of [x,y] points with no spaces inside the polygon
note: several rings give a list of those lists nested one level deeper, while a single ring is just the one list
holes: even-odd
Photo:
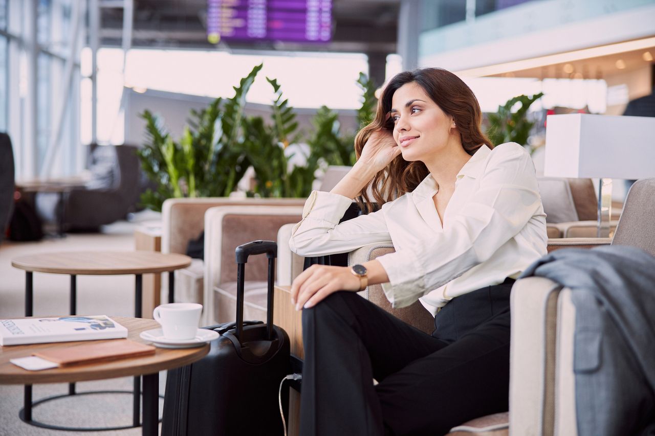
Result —
[{"label": "purple flight information display board hanging overhead", "polygon": [[207,39],[327,43],[332,0],[207,0]]}]

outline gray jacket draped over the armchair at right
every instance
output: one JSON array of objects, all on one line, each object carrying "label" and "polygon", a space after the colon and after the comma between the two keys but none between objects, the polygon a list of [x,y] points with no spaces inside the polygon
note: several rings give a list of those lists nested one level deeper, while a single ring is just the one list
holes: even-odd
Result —
[{"label": "gray jacket draped over the armchair at right", "polygon": [[578,434],[655,434],[655,257],[621,245],[558,250],[525,276],[572,291]]}]

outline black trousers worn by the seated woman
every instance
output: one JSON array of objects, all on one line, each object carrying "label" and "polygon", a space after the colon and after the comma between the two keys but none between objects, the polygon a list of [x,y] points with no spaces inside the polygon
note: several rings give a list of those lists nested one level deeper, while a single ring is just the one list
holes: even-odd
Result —
[{"label": "black trousers worn by the seated woman", "polygon": [[513,283],[451,300],[432,335],[352,292],[303,310],[301,436],[434,436],[508,410]]}]

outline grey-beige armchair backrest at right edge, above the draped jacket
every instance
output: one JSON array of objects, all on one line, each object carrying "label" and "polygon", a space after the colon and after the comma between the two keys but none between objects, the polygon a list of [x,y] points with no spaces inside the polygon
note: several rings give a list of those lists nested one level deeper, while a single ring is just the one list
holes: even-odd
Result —
[{"label": "grey-beige armchair backrest at right edge, above the draped jacket", "polygon": [[630,188],[612,245],[631,245],[655,256],[655,179],[637,180]]}]

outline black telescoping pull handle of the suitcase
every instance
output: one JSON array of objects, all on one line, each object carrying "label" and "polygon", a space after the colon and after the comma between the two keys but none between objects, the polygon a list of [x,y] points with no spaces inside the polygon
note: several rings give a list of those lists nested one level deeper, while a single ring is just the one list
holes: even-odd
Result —
[{"label": "black telescoping pull handle of the suitcase", "polygon": [[275,258],[278,256],[278,244],[274,241],[253,241],[239,245],[234,250],[236,255],[236,337],[241,339],[244,333],[244,282],[248,256],[266,253],[269,259],[268,298],[266,312],[266,335],[273,336],[273,281],[275,277]]}]

